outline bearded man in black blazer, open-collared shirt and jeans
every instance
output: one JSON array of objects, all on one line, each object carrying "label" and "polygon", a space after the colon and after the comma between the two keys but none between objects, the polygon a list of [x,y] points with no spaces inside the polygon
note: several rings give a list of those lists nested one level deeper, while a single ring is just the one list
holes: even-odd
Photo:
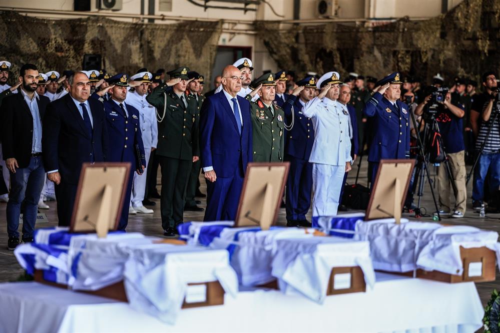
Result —
[{"label": "bearded man in black blazer, open-collared shirt and jeans", "polygon": [[42,119],[49,98],[39,96],[38,68],[26,63],[21,67],[22,86],[19,93],[2,101],[2,150],[11,175],[11,192],[7,203],[8,248],[19,244],[19,216],[23,214],[23,241],[33,241],[38,201],[45,182],[42,160]]}]

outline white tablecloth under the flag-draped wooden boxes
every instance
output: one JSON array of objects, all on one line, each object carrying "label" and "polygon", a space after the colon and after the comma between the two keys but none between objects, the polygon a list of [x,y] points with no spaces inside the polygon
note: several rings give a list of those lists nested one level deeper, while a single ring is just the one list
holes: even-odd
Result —
[{"label": "white tablecloth under the flag-draped wooden boxes", "polygon": [[182,309],[174,326],[128,303],[36,282],[0,284],[0,331],[11,332],[473,332],[483,309],[472,282],[377,273],[366,293],[322,305],[280,291],[239,292],[225,304]]}]

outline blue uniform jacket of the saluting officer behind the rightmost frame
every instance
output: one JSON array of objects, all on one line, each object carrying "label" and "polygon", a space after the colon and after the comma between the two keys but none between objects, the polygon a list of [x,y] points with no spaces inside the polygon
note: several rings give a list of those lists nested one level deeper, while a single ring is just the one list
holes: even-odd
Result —
[{"label": "blue uniform jacket of the saluting officer behind the rightmost frame", "polygon": [[363,112],[373,117],[373,138],[368,153],[368,161],[378,162],[387,158],[407,158],[410,156],[409,107],[400,100],[397,108],[375,92],[368,99]]}]

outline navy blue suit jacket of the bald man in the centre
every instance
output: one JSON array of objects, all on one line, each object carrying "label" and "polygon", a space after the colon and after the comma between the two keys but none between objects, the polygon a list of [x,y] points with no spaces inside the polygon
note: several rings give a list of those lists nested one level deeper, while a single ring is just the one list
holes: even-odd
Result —
[{"label": "navy blue suit jacket of the bald man in the centre", "polygon": [[250,103],[237,98],[243,118],[241,134],[223,91],[207,97],[200,112],[201,165],[213,166],[219,177],[231,177],[238,169],[245,174],[252,161]]}]

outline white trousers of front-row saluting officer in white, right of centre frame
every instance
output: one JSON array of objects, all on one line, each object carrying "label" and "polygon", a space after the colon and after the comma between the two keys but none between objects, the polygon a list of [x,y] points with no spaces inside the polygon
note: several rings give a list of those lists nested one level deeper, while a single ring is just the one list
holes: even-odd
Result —
[{"label": "white trousers of front-row saluting officer in white, right of centre frame", "polygon": [[345,165],[312,163],[313,216],[337,214],[344,173]]}]

